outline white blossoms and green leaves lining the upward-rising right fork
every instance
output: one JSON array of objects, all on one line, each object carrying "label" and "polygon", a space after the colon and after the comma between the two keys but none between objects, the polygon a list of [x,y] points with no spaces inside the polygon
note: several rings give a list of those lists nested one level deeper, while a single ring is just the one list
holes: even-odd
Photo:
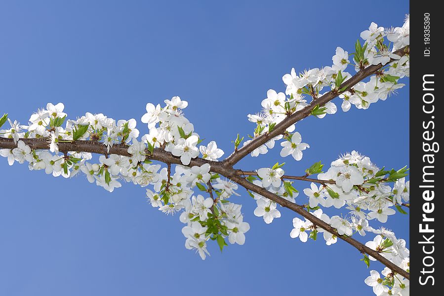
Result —
[{"label": "white blossoms and green leaves lining the upward-rising right fork", "polygon": [[[288,115],[304,109],[310,102],[308,98],[316,100],[323,96],[325,87],[331,91],[342,92],[340,85],[347,81],[352,75],[347,67],[351,65],[355,71],[360,71],[371,65],[382,64],[384,66],[377,74],[371,76],[369,81],[361,81],[348,91],[342,92],[339,98],[342,99],[341,108],[349,111],[352,105],[358,109],[367,109],[370,104],[378,100],[386,100],[405,84],[398,83],[400,78],[409,75],[409,56],[399,56],[393,52],[403,48],[409,43],[409,17],[407,15],[403,27],[384,29],[371,23],[368,30],[362,32],[361,37],[364,44],[358,41],[355,46],[353,62],[350,62],[349,53],[341,47],[336,48],[332,57],[333,65],[323,68],[305,70],[300,74],[291,69],[290,74],[283,75],[282,79],[286,85],[285,93],[277,93],[270,89],[267,98],[262,101],[262,111],[256,114],[248,114],[248,120],[256,123],[251,138],[268,133],[285,119]],[[392,44],[386,44],[385,38]],[[390,62],[393,59],[394,61]],[[326,114],[334,114],[337,107],[333,102],[328,102],[319,106],[312,115],[323,118]],[[298,132],[294,132],[295,126],[291,125],[286,129],[284,135],[277,136],[264,145],[251,152],[251,156],[265,154],[268,149],[275,146],[275,141],[284,140],[281,143],[281,156],[292,155],[295,160],[301,160],[302,151],[310,146],[301,143],[302,138]],[[294,133],[293,133],[294,132]],[[249,141],[245,141],[247,145]]]}]

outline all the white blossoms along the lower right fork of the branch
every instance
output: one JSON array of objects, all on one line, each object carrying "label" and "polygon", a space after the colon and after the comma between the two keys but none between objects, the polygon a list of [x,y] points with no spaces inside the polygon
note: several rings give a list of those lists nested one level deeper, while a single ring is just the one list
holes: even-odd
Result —
[{"label": "all the white blossoms along the lower right fork of the branch", "polygon": [[[284,175],[282,167],[283,164],[276,163],[272,168],[258,169],[247,179],[254,185],[263,187],[294,203],[298,192],[292,186],[292,182],[285,180],[287,176]],[[312,168],[319,173],[323,165],[316,163]],[[311,171],[312,168],[307,170],[305,177],[315,173]],[[309,212],[311,211],[310,214],[335,228],[339,235],[352,236],[359,233],[365,236],[366,232],[377,234],[373,241],[365,245],[405,269],[408,267],[406,262],[408,262],[409,254],[408,249],[405,248],[405,240],[397,239],[393,232],[385,228],[371,227],[369,221],[376,219],[382,223],[387,222],[388,216],[396,213],[393,207],[405,214],[402,206],[409,202],[409,181],[405,182],[406,171],[405,168],[397,171],[379,169],[370,161],[370,158],[357,151],[346,153],[333,161],[327,172],[318,174],[320,185],[312,182],[310,188],[304,189],[305,195],[309,198],[306,207]],[[389,185],[390,183],[393,187]],[[281,217],[281,212],[277,209],[278,205],[274,201],[255,192],[250,195],[257,202],[255,216],[263,217],[267,224]],[[332,206],[337,209],[345,207],[349,213],[345,216],[336,215],[330,218],[320,208]],[[330,246],[337,242],[336,235],[309,219],[294,218],[293,227],[290,237],[299,237],[302,242],[307,242],[308,238],[316,240],[319,233],[323,233],[326,245]],[[370,260],[375,259],[365,256],[364,260],[369,265]],[[398,282],[394,282],[393,278],[397,278]],[[385,280],[383,286],[387,288],[384,288],[386,292],[389,290],[396,293],[402,292],[401,295],[408,293],[408,280],[400,279],[399,276],[395,277],[393,274],[390,282]]]}]

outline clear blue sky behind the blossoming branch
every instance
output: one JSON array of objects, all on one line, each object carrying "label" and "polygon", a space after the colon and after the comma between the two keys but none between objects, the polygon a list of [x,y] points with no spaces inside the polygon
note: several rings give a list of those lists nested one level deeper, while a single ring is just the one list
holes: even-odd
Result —
[{"label": "clear blue sky behind the blossoming branch", "polygon": [[[408,13],[407,1],[211,2],[1,1],[0,112],[26,123],[47,102],[63,102],[72,118],[134,117],[144,133],[146,103],[180,96],[197,132],[227,155],[236,134],[254,128],[246,115],[269,88],[284,90],[291,67],[329,66],[336,46],[352,52],[370,22],[401,26]],[[367,111],[298,123],[311,148],[300,162],[286,158],[286,172],[353,149],[381,167],[408,165],[408,100],[407,85]],[[279,151],[239,167],[272,165]],[[184,248],[178,216],[152,208],[143,188],[110,194],[83,176],[53,178],[4,158],[0,183],[0,295],[372,295],[354,248],[291,239],[295,215],[282,210],[267,225],[242,189],[233,201],[251,225],[245,245],[220,254],[210,244],[202,261]],[[408,216],[389,222],[408,240]]]}]

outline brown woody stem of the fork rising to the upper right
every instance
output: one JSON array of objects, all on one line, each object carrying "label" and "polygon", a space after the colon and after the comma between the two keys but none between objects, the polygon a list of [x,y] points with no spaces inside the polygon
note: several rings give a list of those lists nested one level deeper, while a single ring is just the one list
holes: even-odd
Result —
[{"label": "brown woody stem of the fork rising to the upper right", "polygon": [[[410,50],[410,47],[407,45],[407,46],[395,51],[394,54],[397,54],[399,56],[404,56],[405,54],[409,53],[409,50]],[[390,62],[393,62],[393,61],[394,61],[394,59],[390,60]],[[311,114],[311,112],[313,111],[313,109],[315,109],[315,107],[317,105],[323,106],[326,103],[333,100],[334,98],[336,98],[341,93],[349,91],[353,86],[355,86],[358,82],[362,81],[364,78],[366,78],[372,74],[376,74],[382,67],[383,67],[382,64],[379,64],[379,65],[372,65],[372,66],[369,66],[365,69],[360,70],[353,77],[351,77],[350,79],[348,79],[347,81],[345,81],[344,83],[341,84],[339,89],[342,89],[345,87],[345,89],[342,92],[332,90],[332,91],[325,93],[320,98],[313,100],[304,109],[294,112],[293,114],[287,116],[283,121],[281,121],[279,124],[277,124],[271,132],[262,134],[256,138],[254,138],[253,140],[251,140],[250,143],[248,143],[248,145],[245,145],[242,148],[239,148],[238,150],[233,152],[230,156],[228,156],[224,160],[224,162],[228,163],[231,166],[235,165],[243,157],[245,157],[246,155],[251,153],[254,149],[259,148],[260,146],[264,145],[265,143],[267,143],[268,141],[270,141],[274,137],[282,135],[289,126],[291,126],[291,125],[295,124],[296,122],[309,116]]]}]

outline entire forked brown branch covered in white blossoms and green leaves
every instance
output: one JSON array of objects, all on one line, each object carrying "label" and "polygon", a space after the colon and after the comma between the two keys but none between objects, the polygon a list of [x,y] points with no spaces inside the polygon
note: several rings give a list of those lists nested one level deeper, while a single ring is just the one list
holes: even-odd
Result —
[{"label": "entire forked brown branch covered in white blossoms and green leaves", "polygon": [[[409,75],[408,16],[402,27],[384,29],[371,23],[361,38],[352,54],[337,47],[331,66],[299,74],[292,69],[283,75],[285,92],[267,92],[262,110],[248,114],[255,124],[251,139],[244,141],[238,135],[234,152],[221,161],[224,151],[214,141],[202,145],[184,115],[188,103],[179,97],[165,100],[163,106],[146,105],[141,121],[148,125],[149,133],[140,140],[135,119],[116,121],[89,112],[67,119],[62,103],[48,103],[31,115],[27,126],[4,114],[0,127],[8,121],[10,128],[0,130],[0,155],[9,165],[26,162],[30,170],[44,170],[54,177],[83,174],[89,183],[110,192],[122,182],[151,185],[146,189],[151,205],[166,214],[181,213],[185,247],[196,250],[202,259],[208,255],[210,241],[221,251],[227,241],[244,244],[250,226],[243,221],[242,206],[229,199],[239,195],[241,185],[257,204],[254,215],[265,223],[281,217],[278,205],[295,212],[298,217],[289,229],[291,238],[307,242],[322,235],[327,246],[339,238],[361,253],[367,267],[375,260],[385,265],[382,276],[371,270],[365,279],[376,295],[408,295],[405,240],[387,228],[371,226],[374,220],[388,222],[397,211],[406,214],[407,168],[386,170],[356,151],[341,155],[328,167],[317,162],[297,176],[286,175],[281,160],[271,167],[235,167],[249,154],[265,154],[278,143],[283,158],[301,160],[310,146],[302,142],[295,123],[336,113],[332,100],[337,97],[342,99],[342,111],[349,111],[352,105],[368,109],[404,86],[399,80]],[[348,68],[356,74],[348,73]],[[93,154],[100,156],[93,160]],[[305,198],[296,189],[303,182],[307,184]],[[345,213],[329,217],[326,211],[330,207]],[[368,233],[373,239],[366,243],[354,238]]]}]

